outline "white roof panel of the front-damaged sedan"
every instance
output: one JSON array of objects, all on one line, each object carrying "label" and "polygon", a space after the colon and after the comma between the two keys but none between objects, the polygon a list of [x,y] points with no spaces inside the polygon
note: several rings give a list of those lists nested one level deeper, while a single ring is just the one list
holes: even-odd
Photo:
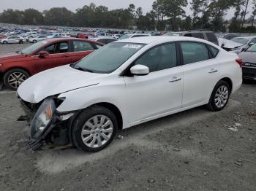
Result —
[{"label": "white roof panel of the front-damaged sedan", "polygon": [[[187,37],[187,36],[142,36],[142,37],[136,37],[136,38],[129,38],[129,39],[121,39],[116,42],[127,42],[127,43],[138,43],[138,44],[151,44],[151,43],[157,43],[157,42],[174,42],[174,41],[196,41],[196,42],[208,42],[203,39],[197,39],[193,37]],[[211,43],[212,44],[212,43]]]}]

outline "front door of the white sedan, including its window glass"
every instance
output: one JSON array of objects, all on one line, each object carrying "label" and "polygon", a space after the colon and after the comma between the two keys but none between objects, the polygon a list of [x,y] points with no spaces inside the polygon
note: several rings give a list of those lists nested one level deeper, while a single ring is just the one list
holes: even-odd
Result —
[{"label": "front door of the white sedan, including its window glass", "polygon": [[130,125],[161,117],[181,109],[183,70],[178,66],[176,43],[148,50],[133,65],[148,66],[146,76],[124,76]]}]

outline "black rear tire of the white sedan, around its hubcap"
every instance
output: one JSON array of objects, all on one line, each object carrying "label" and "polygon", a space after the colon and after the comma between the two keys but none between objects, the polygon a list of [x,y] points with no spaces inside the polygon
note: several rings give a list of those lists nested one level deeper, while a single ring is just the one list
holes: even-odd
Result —
[{"label": "black rear tire of the white sedan, around its hubcap", "polygon": [[[217,106],[217,104],[215,103],[215,96],[216,96],[217,90],[219,90],[220,87],[227,87],[227,90],[228,90],[227,101],[225,102],[225,104],[223,104],[223,106]],[[211,93],[211,98],[209,100],[209,103],[207,104],[207,108],[214,112],[219,112],[220,110],[224,109],[230,98],[230,93],[231,93],[230,85],[227,82],[220,80],[217,83],[217,85],[215,85],[214,90]]]}]

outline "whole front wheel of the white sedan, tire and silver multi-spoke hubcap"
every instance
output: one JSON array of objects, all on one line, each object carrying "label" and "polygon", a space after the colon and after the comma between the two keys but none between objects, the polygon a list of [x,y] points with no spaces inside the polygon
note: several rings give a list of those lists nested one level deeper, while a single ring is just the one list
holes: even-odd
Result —
[{"label": "whole front wheel of the white sedan, tire and silver multi-spoke hubcap", "polygon": [[78,149],[97,152],[110,144],[117,128],[113,112],[103,106],[91,106],[75,119],[72,140]]}]

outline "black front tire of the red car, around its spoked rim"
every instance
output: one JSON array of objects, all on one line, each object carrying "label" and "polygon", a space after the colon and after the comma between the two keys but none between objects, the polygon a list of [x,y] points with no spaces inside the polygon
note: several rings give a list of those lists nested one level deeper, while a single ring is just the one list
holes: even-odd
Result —
[{"label": "black front tire of the red car, around its spoked rim", "polygon": [[[11,69],[10,71],[7,71],[5,74],[4,74],[4,85],[5,87],[9,88],[10,90],[17,90],[18,89],[18,82],[16,83],[17,87],[14,87],[14,85],[12,85],[10,83],[10,76],[12,74],[23,74],[23,78],[22,80],[26,80],[29,78],[29,73],[26,72],[25,70],[23,69]],[[21,82],[21,79],[19,80],[19,82]]]}]

